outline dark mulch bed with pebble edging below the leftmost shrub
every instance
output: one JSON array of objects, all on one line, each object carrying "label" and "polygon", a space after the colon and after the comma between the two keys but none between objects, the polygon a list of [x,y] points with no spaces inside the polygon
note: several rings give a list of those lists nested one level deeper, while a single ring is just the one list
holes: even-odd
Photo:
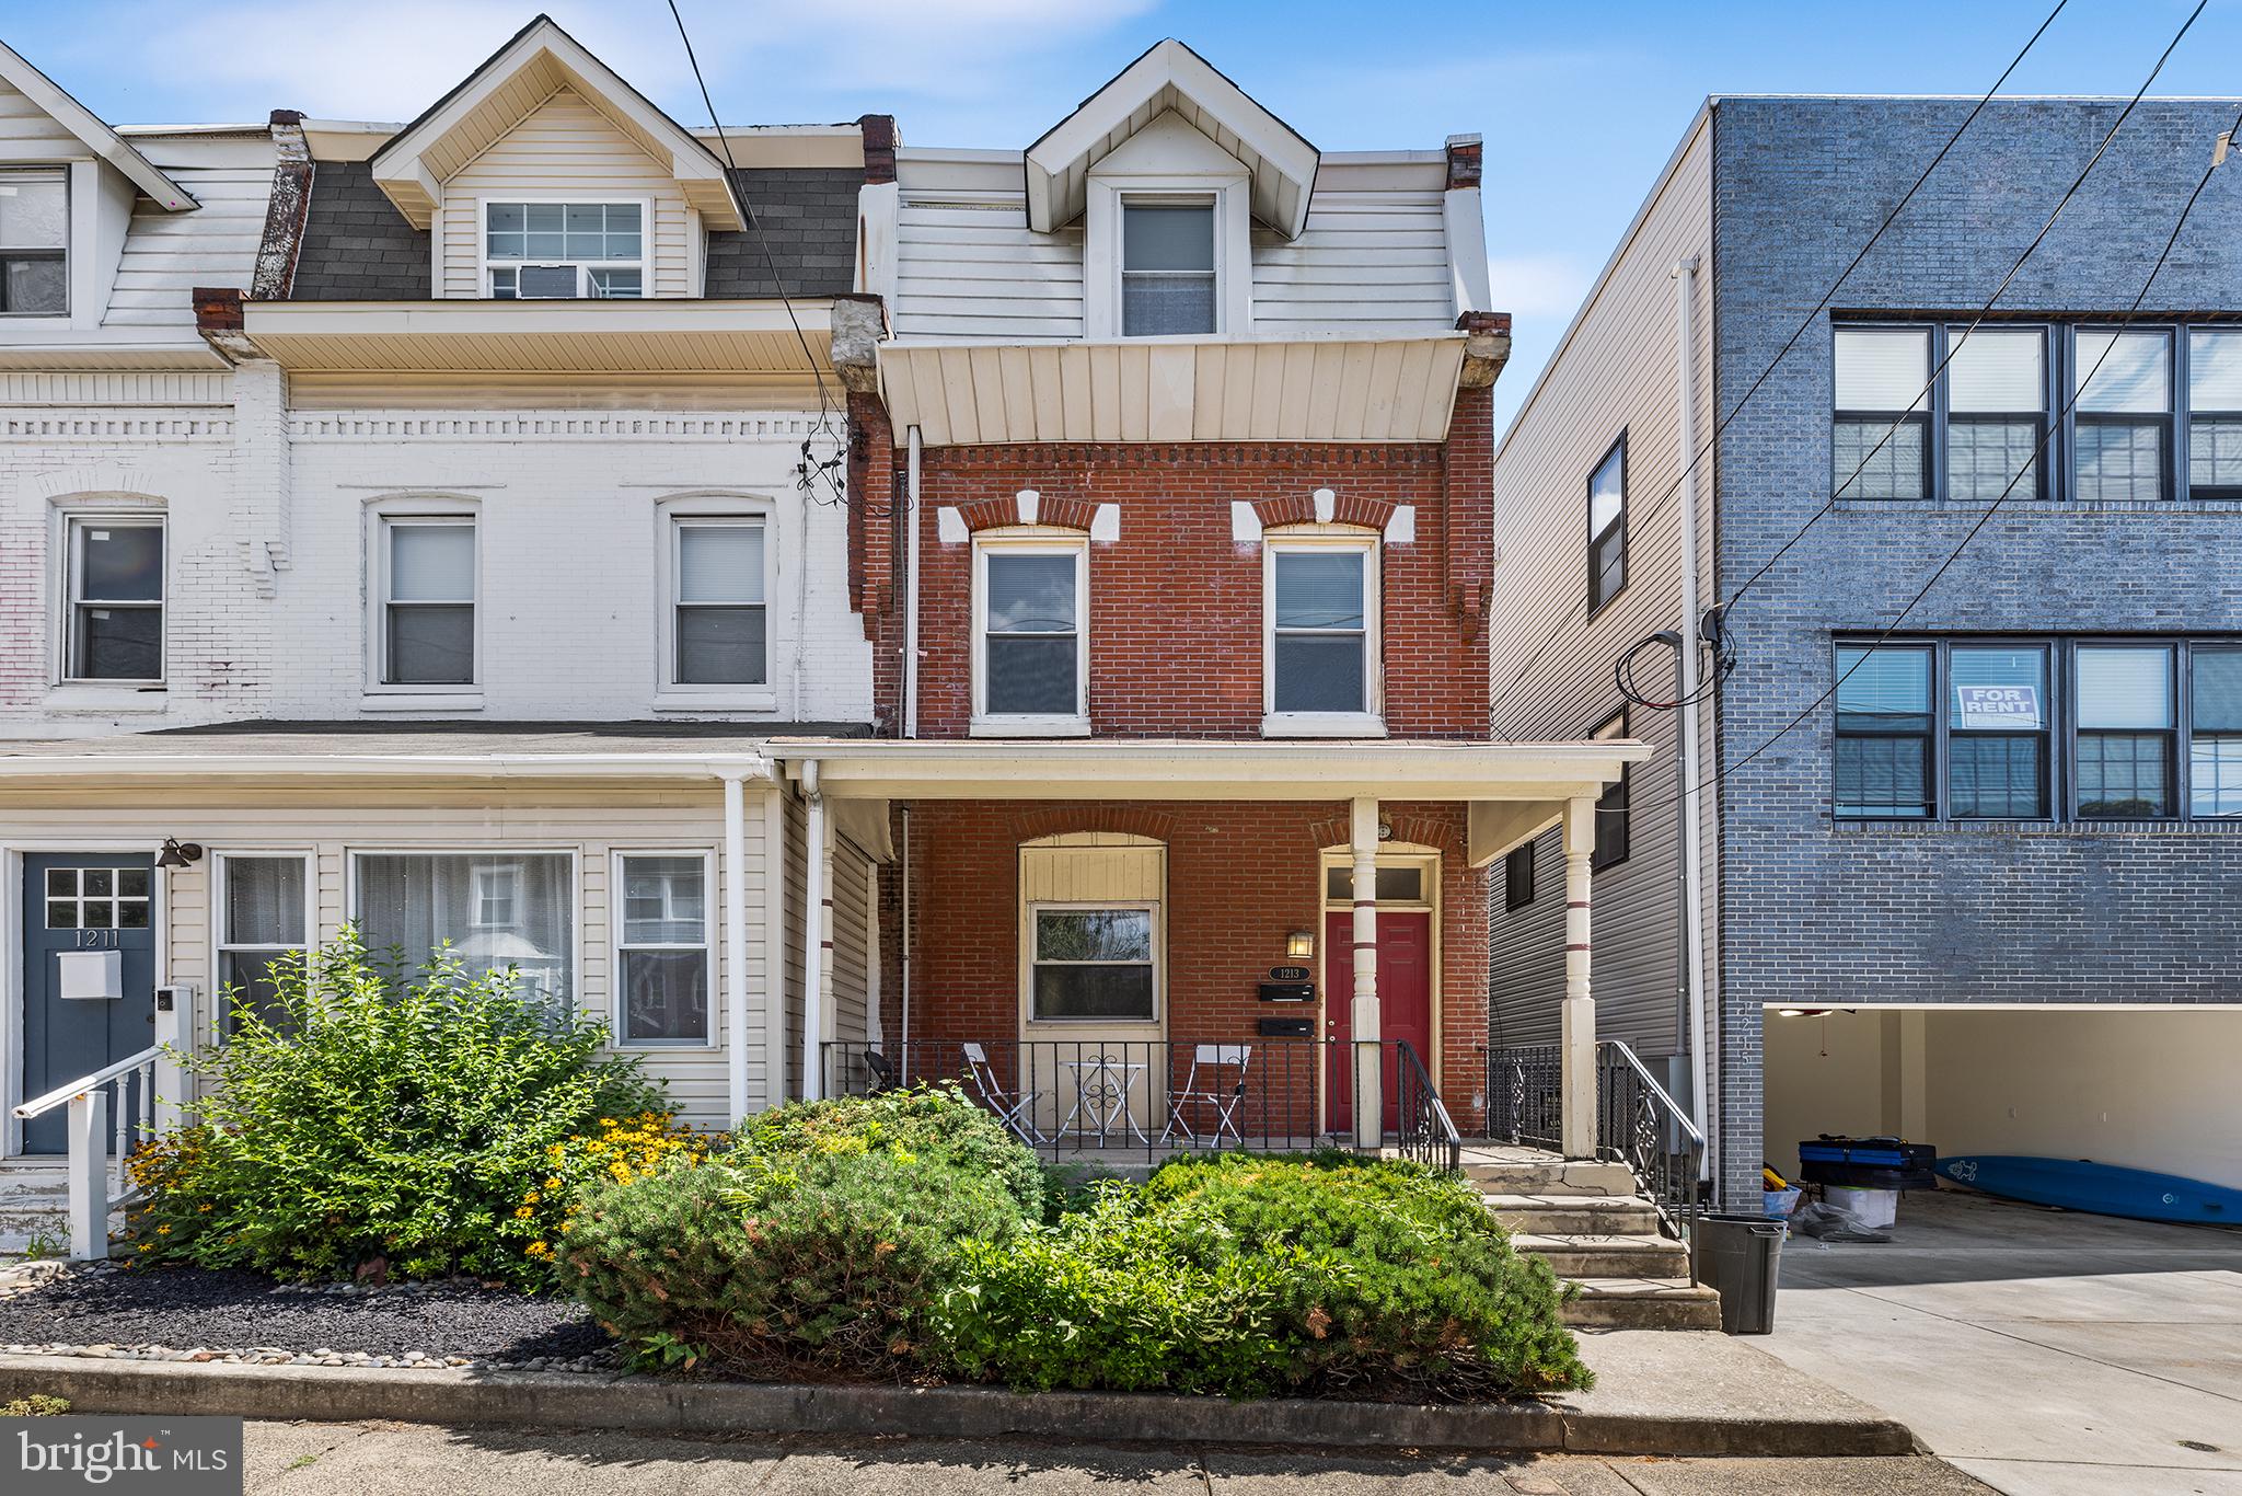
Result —
[{"label": "dark mulch bed with pebble edging below the leftmost shrub", "polygon": [[605,1370],[583,1305],[480,1283],[289,1285],[253,1272],[76,1265],[0,1281],[0,1350],[298,1366]]}]

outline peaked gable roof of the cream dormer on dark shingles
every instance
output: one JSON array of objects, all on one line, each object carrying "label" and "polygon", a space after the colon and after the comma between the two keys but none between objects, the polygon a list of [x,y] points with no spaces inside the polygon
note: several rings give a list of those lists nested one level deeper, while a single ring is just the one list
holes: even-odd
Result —
[{"label": "peaked gable roof of the cream dormer on dark shingles", "polygon": [[563,90],[578,94],[659,161],[708,229],[744,229],[724,161],[549,16],[516,31],[513,40],[374,153],[374,184],[415,229],[426,229],[444,179]]}]

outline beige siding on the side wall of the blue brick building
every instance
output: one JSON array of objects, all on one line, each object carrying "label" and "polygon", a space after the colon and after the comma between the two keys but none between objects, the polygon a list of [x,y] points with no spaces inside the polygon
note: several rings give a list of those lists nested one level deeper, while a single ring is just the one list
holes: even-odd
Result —
[{"label": "beige siding on the side wall of the blue brick building", "polygon": [[[1679,496],[1675,437],[1675,260],[1697,256],[1697,440],[1715,424],[1711,316],[1711,132],[1688,144],[1634,238],[1594,292],[1538,395],[1495,455],[1493,731],[1498,738],[1585,738],[1621,707],[1612,662],[1643,635],[1677,626]],[[1502,301],[1502,287],[1495,287]],[[1628,435],[1628,588],[1585,619],[1587,475]],[[1711,460],[1697,469],[1699,592],[1713,601]],[[1551,630],[1556,635],[1551,637]],[[1547,641],[1547,646],[1545,646]],[[1673,682],[1673,655],[1646,653],[1641,682]],[[1711,711],[1704,763],[1711,765]],[[1628,736],[1657,745],[1630,776],[1630,857],[1594,877],[1592,991],[1596,1032],[1646,1056],[1677,1047],[1675,713],[1637,707]],[[1711,769],[1706,769],[1711,772]],[[1711,796],[1706,855],[1711,861]],[[1493,1005],[1504,1034],[1556,1038],[1563,998],[1565,868],[1554,837],[1538,850],[1531,908],[1507,913],[1495,879]],[[1708,890],[1711,893],[1711,890]],[[1708,897],[1708,911],[1713,908]],[[1556,973],[1551,978],[1551,973]]]}]

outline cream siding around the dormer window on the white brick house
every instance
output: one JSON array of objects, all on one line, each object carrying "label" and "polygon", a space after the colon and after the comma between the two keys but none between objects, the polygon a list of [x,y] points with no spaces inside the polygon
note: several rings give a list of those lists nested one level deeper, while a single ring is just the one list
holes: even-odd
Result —
[{"label": "cream siding around the dormer window on the white brick house", "polygon": [[686,197],[668,168],[608,123],[578,94],[560,90],[444,182],[439,233],[442,294],[482,296],[478,197],[650,197],[646,242],[648,296],[693,296],[693,249]]}]

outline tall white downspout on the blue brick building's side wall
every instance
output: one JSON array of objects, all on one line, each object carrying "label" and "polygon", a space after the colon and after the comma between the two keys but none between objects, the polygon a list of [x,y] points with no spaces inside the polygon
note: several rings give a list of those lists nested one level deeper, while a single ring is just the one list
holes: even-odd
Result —
[{"label": "tall white downspout on the blue brick building's side wall", "polygon": [[1688,994],[1688,1086],[1690,1110],[1697,1115],[1697,1130],[1708,1142],[1697,1160],[1697,1178],[1713,1178],[1713,1148],[1708,1128],[1706,1079],[1706,1034],[1704,1034],[1704,807],[1697,803],[1702,763],[1697,745],[1697,689],[1699,689],[1699,603],[1697,603],[1697,401],[1695,401],[1695,348],[1697,348],[1697,256],[1675,260],[1675,449],[1682,460],[1682,650],[1679,650],[1679,695],[1682,711],[1675,729],[1682,733],[1682,783],[1675,796],[1675,814],[1682,816],[1682,973]]}]

